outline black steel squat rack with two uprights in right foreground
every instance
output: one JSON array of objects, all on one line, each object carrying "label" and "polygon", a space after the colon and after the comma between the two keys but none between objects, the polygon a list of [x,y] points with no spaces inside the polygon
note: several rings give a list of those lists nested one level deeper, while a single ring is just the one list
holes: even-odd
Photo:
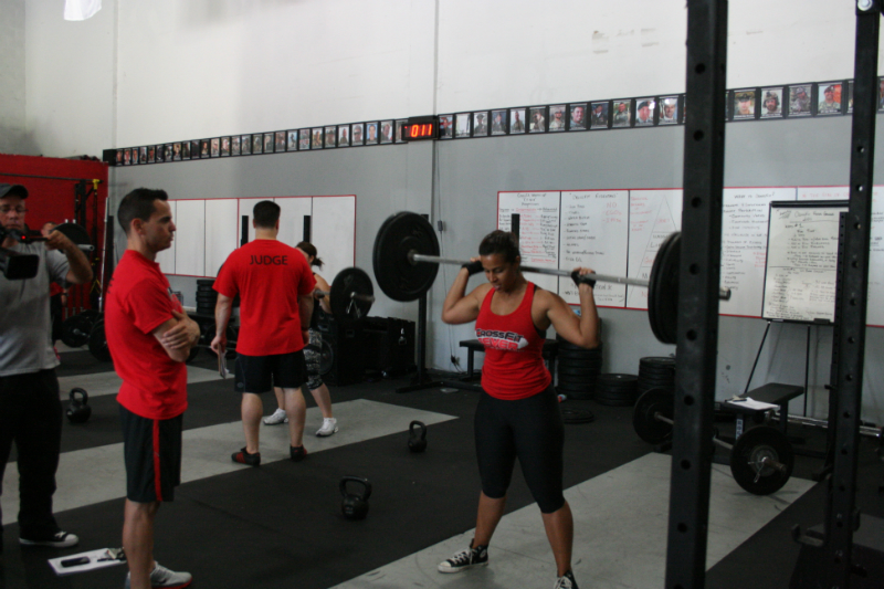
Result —
[{"label": "black steel squat rack with two uprights in right foreground", "polygon": [[[850,203],[833,349],[834,464],[822,539],[797,535],[818,553],[820,587],[849,589],[853,571],[857,444],[865,348],[869,245],[877,107],[877,51],[884,0],[856,0]],[[724,188],[727,0],[688,0],[684,130],[684,206],[680,267],[675,424],[666,550],[667,589],[705,586],[718,338],[718,284]]]}]

